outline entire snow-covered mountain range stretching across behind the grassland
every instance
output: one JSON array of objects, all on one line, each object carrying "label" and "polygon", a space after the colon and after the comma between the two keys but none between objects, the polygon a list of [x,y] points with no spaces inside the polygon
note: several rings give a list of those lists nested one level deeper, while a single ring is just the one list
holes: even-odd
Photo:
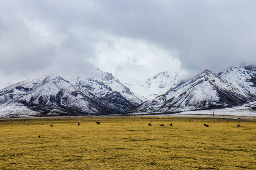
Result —
[{"label": "entire snow-covered mountain range stretching across behind the grassland", "polygon": [[256,99],[256,67],[238,66],[219,74],[205,70],[184,82],[162,72],[122,84],[109,72],[98,77],[45,76],[0,90],[0,117],[173,113],[226,108]]}]

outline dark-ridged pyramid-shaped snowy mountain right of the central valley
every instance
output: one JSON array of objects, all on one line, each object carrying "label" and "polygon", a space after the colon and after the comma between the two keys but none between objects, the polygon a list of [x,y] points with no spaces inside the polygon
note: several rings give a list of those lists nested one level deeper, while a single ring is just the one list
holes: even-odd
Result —
[{"label": "dark-ridged pyramid-shaped snowy mountain right of the central valley", "polygon": [[223,108],[250,102],[254,96],[240,90],[226,79],[205,70],[183,85],[148,100],[130,112],[174,112]]}]

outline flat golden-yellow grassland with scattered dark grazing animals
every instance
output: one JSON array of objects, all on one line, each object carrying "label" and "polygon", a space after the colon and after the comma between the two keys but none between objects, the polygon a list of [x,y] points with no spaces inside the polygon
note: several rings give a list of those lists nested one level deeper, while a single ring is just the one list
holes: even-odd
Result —
[{"label": "flat golden-yellow grassland with scattered dark grazing animals", "polygon": [[29,169],[256,170],[256,120],[1,119],[0,170]]}]

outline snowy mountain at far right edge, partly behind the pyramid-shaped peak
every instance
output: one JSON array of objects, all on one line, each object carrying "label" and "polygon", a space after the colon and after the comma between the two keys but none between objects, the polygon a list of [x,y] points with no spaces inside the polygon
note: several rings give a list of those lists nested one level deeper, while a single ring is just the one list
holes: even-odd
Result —
[{"label": "snowy mountain at far right edge, partly behind the pyramid-shaped peak", "polygon": [[256,96],[256,66],[233,67],[218,75],[235,85],[240,93]]}]

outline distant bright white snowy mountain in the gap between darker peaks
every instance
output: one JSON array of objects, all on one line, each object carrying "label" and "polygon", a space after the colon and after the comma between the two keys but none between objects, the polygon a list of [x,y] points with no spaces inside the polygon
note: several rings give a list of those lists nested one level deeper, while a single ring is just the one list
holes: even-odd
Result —
[{"label": "distant bright white snowy mountain in the gap between darker peaks", "polygon": [[181,78],[176,72],[162,72],[144,81],[125,84],[142,101],[154,99],[176,87]]}]

